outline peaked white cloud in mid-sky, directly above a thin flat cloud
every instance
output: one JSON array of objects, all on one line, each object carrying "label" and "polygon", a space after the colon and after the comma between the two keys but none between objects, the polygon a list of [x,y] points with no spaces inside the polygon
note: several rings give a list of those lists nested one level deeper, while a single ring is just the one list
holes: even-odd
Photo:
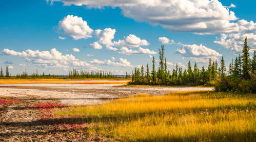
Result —
[{"label": "peaked white cloud in mid-sky, directly above a thin flat cloud", "polygon": [[149,43],[145,39],[141,39],[134,34],[129,34],[125,36],[123,40],[119,40],[118,42],[114,42],[114,46],[119,47],[140,47],[140,46],[148,46]]}]

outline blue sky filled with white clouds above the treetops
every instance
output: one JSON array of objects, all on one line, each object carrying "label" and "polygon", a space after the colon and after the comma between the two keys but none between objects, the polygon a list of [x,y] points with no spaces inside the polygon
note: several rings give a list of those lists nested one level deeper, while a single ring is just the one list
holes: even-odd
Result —
[{"label": "blue sky filled with white clouds above the treetops", "polygon": [[168,69],[188,60],[199,67],[256,49],[256,1],[28,0],[0,5],[0,64],[12,75],[27,70],[131,73],[158,58]]}]

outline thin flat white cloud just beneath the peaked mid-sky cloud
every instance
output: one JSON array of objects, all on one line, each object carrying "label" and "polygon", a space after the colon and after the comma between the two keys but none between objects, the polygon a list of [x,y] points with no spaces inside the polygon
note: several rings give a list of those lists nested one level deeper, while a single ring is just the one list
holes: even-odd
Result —
[{"label": "thin flat white cloud just beneath the peaked mid-sky cloud", "polygon": [[128,49],[127,47],[122,47],[119,51],[120,54],[126,54],[126,55],[130,55],[130,54],[156,54],[155,51],[151,51],[147,48],[141,48],[139,47],[138,50],[132,50],[132,49]]}]

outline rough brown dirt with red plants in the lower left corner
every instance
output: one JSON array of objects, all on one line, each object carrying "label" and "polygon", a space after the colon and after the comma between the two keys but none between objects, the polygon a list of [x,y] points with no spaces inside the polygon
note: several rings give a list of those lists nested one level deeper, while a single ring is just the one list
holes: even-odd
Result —
[{"label": "rough brown dirt with red plants in the lower left corner", "polygon": [[45,111],[37,109],[36,104],[60,103],[59,100],[33,95],[10,98],[18,102],[0,104],[0,141],[110,141],[99,135],[88,135],[82,129],[60,129],[60,123],[42,119]]}]

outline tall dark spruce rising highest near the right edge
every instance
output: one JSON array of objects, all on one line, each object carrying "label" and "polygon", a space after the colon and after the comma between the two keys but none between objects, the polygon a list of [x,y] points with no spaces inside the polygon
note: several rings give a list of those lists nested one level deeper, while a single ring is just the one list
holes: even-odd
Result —
[{"label": "tall dark spruce rising highest near the right edge", "polygon": [[250,47],[247,46],[247,37],[245,37],[244,40],[244,48],[243,48],[243,70],[242,70],[242,76],[244,79],[250,78],[250,58],[249,58],[249,50]]}]

